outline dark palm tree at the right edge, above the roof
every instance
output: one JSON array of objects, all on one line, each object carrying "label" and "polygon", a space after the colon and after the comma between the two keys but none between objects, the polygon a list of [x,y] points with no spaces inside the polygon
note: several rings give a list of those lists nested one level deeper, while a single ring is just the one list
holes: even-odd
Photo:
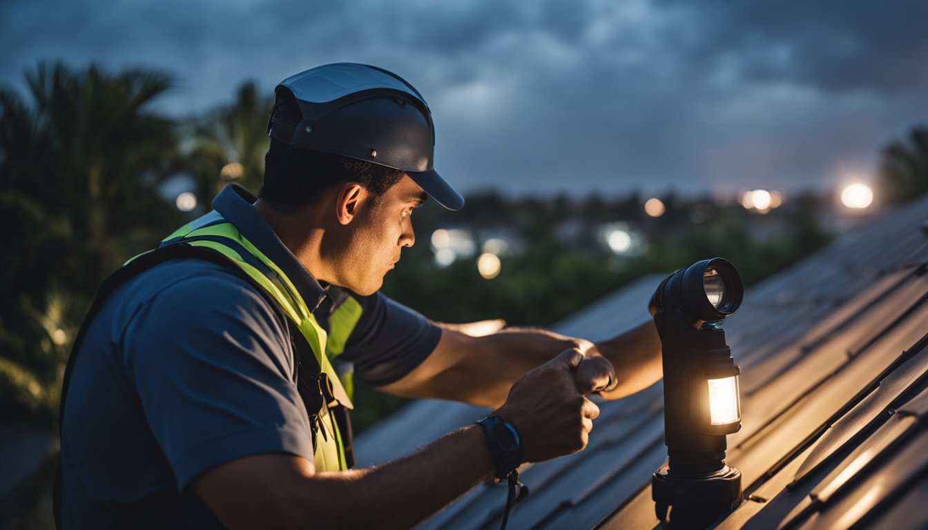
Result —
[{"label": "dark palm tree at the right edge, above the roof", "polygon": [[883,149],[880,179],[889,202],[928,192],[928,127],[914,127],[908,143],[896,141]]}]

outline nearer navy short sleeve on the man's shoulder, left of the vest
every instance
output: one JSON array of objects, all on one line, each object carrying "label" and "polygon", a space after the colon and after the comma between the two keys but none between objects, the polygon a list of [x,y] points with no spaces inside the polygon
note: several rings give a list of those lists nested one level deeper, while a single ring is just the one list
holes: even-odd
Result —
[{"label": "nearer navy short sleeve on the man's shoulder, left of the vest", "polygon": [[312,461],[287,330],[242,278],[218,269],[161,291],[123,335],[123,366],[181,491],[242,457]]}]

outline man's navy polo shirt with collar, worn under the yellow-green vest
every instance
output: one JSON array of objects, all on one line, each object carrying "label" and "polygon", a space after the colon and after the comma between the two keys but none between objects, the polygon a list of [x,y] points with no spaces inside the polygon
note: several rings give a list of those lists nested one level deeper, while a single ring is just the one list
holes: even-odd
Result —
[{"label": "man's navy polo shirt with collar, worn under the yellow-green vest", "polygon": [[[318,320],[345,294],[364,308],[341,358],[374,385],[397,381],[441,337],[380,292],[330,297],[239,187],[213,207],[290,278]],[[61,433],[62,517],[98,528],[170,523],[201,472],[262,453],[313,459],[286,323],[250,283],[220,265],[178,259],[113,292],[87,329]],[[189,495],[187,493],[187,495]]]}]

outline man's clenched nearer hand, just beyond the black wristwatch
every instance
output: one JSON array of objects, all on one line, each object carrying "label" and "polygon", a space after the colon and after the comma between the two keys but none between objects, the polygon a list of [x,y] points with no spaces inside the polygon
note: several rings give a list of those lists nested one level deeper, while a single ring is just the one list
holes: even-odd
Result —
[{"label": "man's clenched nearer hand, just beyond the black wristwatch", "polygon": [[605,389],[615,374],[603,357],[570,349],[516,381],[496,414],[522,438],[526,461],[538,462],[586,447],[599,407],[586,394]]}]

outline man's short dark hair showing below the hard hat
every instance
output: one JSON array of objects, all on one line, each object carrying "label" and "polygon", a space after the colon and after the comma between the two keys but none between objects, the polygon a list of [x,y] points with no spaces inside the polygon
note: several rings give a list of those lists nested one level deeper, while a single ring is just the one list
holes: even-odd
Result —
[{"label": "man's short dark hair showing below the hard hat", "polygon": [[354,181],[380,196],[403,175],[403,171],[392,167],[295,148],[271,139],[264,156],[264,185],[258,197],[279,213],[295,213],[312,204],[329,187]]}]

